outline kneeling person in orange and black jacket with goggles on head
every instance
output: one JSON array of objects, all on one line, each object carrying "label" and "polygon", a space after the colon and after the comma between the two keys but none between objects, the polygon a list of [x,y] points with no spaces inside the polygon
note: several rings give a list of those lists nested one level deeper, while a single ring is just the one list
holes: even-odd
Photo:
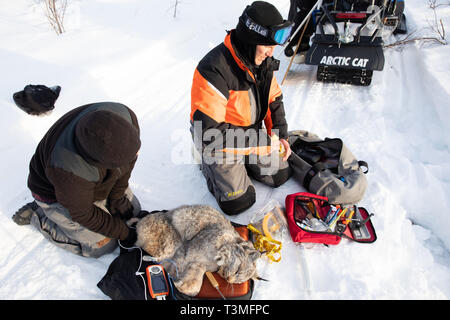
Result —
[{"label": "kneeling person in orange and black jacket with goggles on head", "polygon": [[194,72],[191,132],[209,191],[226,214],[255,202],[249,175],[271,187],[291,175],[283,95],[274,76],[279,61],[272,57],[291,30],[272,4],[255,1]]}]

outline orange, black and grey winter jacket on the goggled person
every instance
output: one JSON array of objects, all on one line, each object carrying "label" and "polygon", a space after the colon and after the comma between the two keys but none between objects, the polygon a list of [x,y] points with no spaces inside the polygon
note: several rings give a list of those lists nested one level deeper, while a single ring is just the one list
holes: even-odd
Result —
[{"label": "orange, black and grey winter jacket on the goggled person", "polygon": [[[227,129],[259,129],[264,123],[269,136],[277,129],[278,136],[286,139],[283,96],[274,77],[279,61],[266,58],[258,72],[263,76],[258,77],[239,58],[232,39],[233,31],[199,62],[194,72],[191,123],[201,121],[203,133],[208,129],[222,133]],[[269,144],[269,139],[265,140],[258,144]]]}]

